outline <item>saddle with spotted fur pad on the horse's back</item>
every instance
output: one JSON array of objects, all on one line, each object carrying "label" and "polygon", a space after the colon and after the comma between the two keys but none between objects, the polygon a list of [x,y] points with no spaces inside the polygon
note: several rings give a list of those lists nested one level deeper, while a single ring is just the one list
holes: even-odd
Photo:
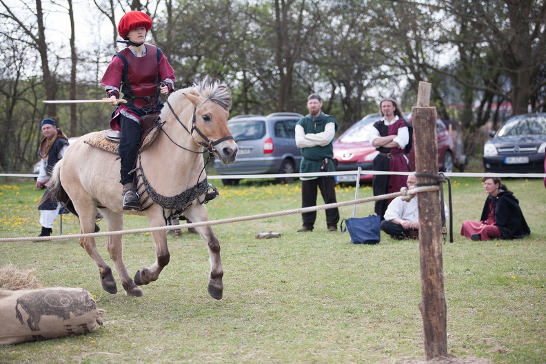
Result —
[{"label": "saddle with spotted fur pad on the horse's back", "polygon": [[[142,135],[140,141],[140,150],[143,151],[150,146],[155,140],[159,128],[157,123],[159,121],[159,112],[153,114],[143,115],[141,117]],[[85,139],[83,143],[89,144],[95,148],[105,150],[113,154],[119,154],[119,140],[121,139],[121,132],[118,130],[101,130],[96,132]]]}]

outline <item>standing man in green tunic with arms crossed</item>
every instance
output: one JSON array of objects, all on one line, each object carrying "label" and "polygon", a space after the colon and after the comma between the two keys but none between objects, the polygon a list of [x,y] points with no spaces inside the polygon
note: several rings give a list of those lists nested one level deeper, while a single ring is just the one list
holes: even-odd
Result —
[{"label": "standing man in green tunic with arms crossed", "polygon": [[[335,172],[334,148],[332,141],[338,130],[334,117],[321,111],[322,100],[318,94],[307,97],[309,114],[296,124],[296,145],[301,148],[303,158],[300,163],[300,173]],[[316,205],[317,188],[321,190],[324,203],[336,203],[336,183],[333,176],[301,177],[301,207]],[[337,231],[339,222],[338,208],[326,211],[328,231]],[[303,226],[298,232],[312,231],[316,220],[316,211],[301,214]]]}]

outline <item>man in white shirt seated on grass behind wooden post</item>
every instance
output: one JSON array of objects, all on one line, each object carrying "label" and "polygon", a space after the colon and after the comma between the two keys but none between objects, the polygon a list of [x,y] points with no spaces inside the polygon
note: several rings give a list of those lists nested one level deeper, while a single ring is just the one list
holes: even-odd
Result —
[{"label": "man in white shirt seated on grass behind wooden post", "polygon": [[[407,176],[407,189],[413,190],[417,177],[415,174]],[[449,216],[449,210],[444,203],[445,218]],[[389,234],[392,239],[418,239],[419,214],[417,210],[417,195],[410,201],[404,201],[402,196],[396,197],[387,207],[385,220],[381,221],[381,230]]]}]

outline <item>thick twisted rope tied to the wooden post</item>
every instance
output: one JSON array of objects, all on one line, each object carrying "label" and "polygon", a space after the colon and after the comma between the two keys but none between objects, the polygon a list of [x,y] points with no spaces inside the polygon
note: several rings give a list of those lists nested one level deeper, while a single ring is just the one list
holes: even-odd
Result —
[{"label": "thick twisted rope tied to the wooden post", "polygon": [[365,203],[365,202],[372,202],[372,201],[379,201],[379,200],[386,200],[386,199],[394,199],[395,197],[398,197],[398,196],[407,196],[412,194],[418,194],[421,192],[434,192],[439,190],[440,190],[440,187],[438,185],[425,186],[425,187],[414,188],[413,190],[403,190],[401,192],[394,192],[391,194],[382,194],[381,196],[366,197],[365,199],[356,199],[351,201],[328,203],[327,205],[310,206],[309,208],[283,210],[278,212],[269,212],[265,214],[256,214],[256,215],[250,215],[250,216],[239,216],[239,217],[232,217],[228,219],[220,219],[220,220],[214,220],[214,221],[201,221],[199,223],[185,223],[181,225],[157,226],[156,228],[118,230],[113,232],[92,232],[88,234],[72,234],[72,235],[57,235],[57,236],[28,236],[26,238],[0,238],[0,243],[8,243],[8,242],[14,242],[14,241],[51,241],[51,240],[90,238],[90,237],[98,237],[98,236],[139,234],[142,232],[179,230],[179,229],[185,229],[185,228],[196,228],[198,226],[221,225],[225,223],[238,223],[241,221],[265,219],[267,217],[286,216],[286,215],[292,215],[292,214],[301,214],[302,212],[327,210],[330,208],[338,208],[342,206],[354,205],[356,203]]}]

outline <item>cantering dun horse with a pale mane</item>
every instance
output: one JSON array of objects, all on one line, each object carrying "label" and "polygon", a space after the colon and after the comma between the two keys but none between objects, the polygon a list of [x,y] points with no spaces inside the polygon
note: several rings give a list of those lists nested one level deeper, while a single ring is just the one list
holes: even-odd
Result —
[{"label": "cantering dun horse with a pale mane", "polygon": [[[70,145],[63,159],[55,165],[49,182],[50,193],[79,216],[81,233],[94,231],[96,209],[103,214],[109,231],[123,230],[123,214],[145,214],[150,227],[165,226],[165,216],[183,214],[192,222],[208,221],[203,205],[208,183],[202,153],[214,153],[222,163],[233,163],[237,145],[228,130],[231,92],[227,85],[203,79],[200,85],[178,90],[170,95],[161,110],[161,129],[156,139],[137,159],[141,203],[153,202],[145,210],[122,210],[122,186],[116,155],[94,148],[84,141],[90,133]],[[172,109],[171,109],[172,108]],[[144,191],[145,188],[145,191]],[[189,207],[188,207],[189,206]],[[196,227],[208,244],[210,277],[208,292],[214,299],[223,294],[223,269],[220,244],[210,226]],[[158,279],[168,265],[170,254],[165,231],[152,232],[156,261],[136,272],[134,281],[123,263],[121,235],[108,236],[106,246],[114,261],[123,289],[129,296],[142,296],[139,285]],[[103,289],[117,293],[112,269],[97,252],[94,238],[80,238],[79,244],[97,263]]]}]

